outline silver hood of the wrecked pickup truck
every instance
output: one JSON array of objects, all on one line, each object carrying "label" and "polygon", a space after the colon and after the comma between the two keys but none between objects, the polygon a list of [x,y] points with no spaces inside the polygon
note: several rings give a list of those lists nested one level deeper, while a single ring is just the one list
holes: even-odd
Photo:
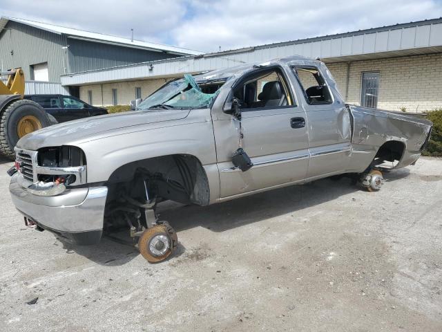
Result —
[{"label": "silver hood of the wrecked pickup truck", "polygon": [[180,120],[189,115],[189,109],[128,111],[105,116],[95,116],[81,120],[55,124],[39,131],[23,136],[17,147],[36,150],[41,147],[70,145],[87,142],[97,138],[113,136],[121,131],[137,131],[158,127],[166,127],[167,121]]}]

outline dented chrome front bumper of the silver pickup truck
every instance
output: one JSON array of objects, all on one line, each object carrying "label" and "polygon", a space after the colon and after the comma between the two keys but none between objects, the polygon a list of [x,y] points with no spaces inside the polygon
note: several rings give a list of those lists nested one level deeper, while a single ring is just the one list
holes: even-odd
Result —
[{"label": "dented chrome front bumper of the silver pickup truck", "polygon": [[66,190],[57,196],[36,196],[11,178],[12,202],[21,214],[39,228],[79,244],[98,243],[102,237],[107,187]]}]

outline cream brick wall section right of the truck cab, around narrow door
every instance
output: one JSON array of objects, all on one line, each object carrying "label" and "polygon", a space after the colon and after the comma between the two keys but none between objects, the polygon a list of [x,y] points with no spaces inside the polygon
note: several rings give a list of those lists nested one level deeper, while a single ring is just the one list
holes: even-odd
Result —
[{"label": "cream brick wall section right of the truck cab, around narrow door", "polygon": [[[340,93],[345,97],[347,63],[329,64]],[[352,62],[347,102],[361,103],[362,73],[380,75],[378,108],[422,112],[442,108],[442,53]]]}]

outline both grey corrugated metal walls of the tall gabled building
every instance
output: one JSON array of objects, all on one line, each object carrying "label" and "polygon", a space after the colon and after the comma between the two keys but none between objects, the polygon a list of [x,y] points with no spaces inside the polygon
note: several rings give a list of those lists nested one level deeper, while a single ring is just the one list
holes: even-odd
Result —
[{"label": "both grey corrugated metal walls of the tall gabled building", "polygon": [[[61,48],[67,45],[67,51]],[[68,38],[15,21],[0,33],[0,66],[23,68],[26,80],[32,78],[30,66],[43,62],[48,62],[49,82],[60,82],[65,66],[66,73],[75,73],[173,57],[177,55]]]}]

